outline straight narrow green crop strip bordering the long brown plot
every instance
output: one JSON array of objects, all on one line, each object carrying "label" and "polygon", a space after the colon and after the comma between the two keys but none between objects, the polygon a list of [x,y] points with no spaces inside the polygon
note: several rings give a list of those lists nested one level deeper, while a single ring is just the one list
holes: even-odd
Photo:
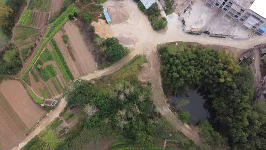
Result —
[{"label": "straight narrow green crop strip bordering the long brown plot", "polygon": [[69,70],[69,68],[66,65],[66,61],[64,60],[64,57],[62,55],[62,53],[60,52],[56,41],[54,39],[52,39],[50,41],[50,45],[53,47],[53,57],[54,60],[61,72],[61,74],[63,75],[64,80],[66,81],[66,83],[68,83],[70,80],[73,80],[74,77],[71,73],[71,71]]}]

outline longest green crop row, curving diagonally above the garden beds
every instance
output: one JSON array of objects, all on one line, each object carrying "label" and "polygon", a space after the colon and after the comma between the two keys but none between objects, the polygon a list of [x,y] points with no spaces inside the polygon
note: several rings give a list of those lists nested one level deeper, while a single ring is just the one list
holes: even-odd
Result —
[{"label": "longest green crop row, curving diagonally above the garden beds", "polygon": [[[46,34],[46,38],[44,41],[41,43],[40,47],[37,49],[36,54],[34,55],[31,63],[29,66],[26,68],[26,70],[23,73],[23,78],[27,76],[31,68],[33,67],[34,63],[38,59],[39,55],[41,54],[42,49],[45,47],[45,45],[49,42],[49,40],[61,29],[61,27],[69,20],[68,15],[71,14],[73,15],[74,12],[76,11],[76,7],[72,4],[70,5],[66,11],[64,11],[50,26],[48,29],[48,32]],[[48,34],[49,33],[49,34]]]}]

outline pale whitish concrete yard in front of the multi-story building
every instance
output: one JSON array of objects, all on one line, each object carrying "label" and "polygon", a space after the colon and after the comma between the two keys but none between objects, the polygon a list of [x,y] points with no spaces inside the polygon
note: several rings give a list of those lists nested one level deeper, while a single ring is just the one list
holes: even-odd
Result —
[{"label": "pale whitish concrete yard in front of the multi-story building", "polygon": [[248,38],[251,30],[236,24],[236,19],[229,20],[224,17],[225,12],[217,7],[208,8],[205,0],[194,0],[186,13],[181,17],[186,22],[185,30],[209,31],[213,34],[232,35],[236,38]]}]

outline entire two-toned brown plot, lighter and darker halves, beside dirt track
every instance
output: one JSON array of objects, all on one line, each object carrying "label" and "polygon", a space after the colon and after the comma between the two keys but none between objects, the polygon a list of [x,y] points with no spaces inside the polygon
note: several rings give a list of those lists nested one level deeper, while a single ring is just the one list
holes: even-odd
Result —
[{"label": "entire two-toned brown plot, lighter and darker halves, beside dirt track", "polygon": [[0,92],[0,144],[9,150],[46,112],[33,102],[19,81],[4,81]]}]

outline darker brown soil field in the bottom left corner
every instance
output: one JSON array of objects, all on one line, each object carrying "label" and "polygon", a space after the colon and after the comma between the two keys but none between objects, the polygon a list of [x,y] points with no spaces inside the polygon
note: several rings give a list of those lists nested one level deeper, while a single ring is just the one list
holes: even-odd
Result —
[{"label": "darker brown soil field in the bottom left corner", "polygon": [[28,128],[0,93],[0,145],[3,150],[16,146]]}]

